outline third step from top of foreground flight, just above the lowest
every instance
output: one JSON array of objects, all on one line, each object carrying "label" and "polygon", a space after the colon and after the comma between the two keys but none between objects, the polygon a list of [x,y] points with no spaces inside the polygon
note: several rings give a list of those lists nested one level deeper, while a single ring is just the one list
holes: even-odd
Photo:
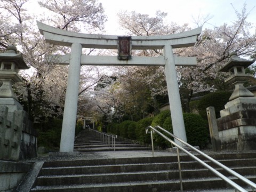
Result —
[{"label": "third step from top of foreground flight, just above the lowest", "polygon": [[[105,167],[104,167],[105,168]],[[240,170],[240,168],[234,169],[234,171],[239,171],[240,174],[243,175],[254,175],[254,171],[256,167],[245,167]],[[217,169],[221,173],[225,173],[225,171],[221,169]],[[90,173],[90,171],[85,171],[85,173]],[[182,171],[182,179],[197,179],[197,178],[212,178],[214,174],[209,172],[206,169],[202,170],[183,170]],[[62,174],[61,175],[43,175],[38,177],[36,185],[37,186],[49,186],[49,185],[62,185],[62,183],[70,184],[70,185],[78,185],[78,184],[88,184],[88,183],[110,183],[110,182],[131,182],[145,181],[145,178],[148,180],[171,180],[172,178],[179,178],[178,170],[166,171],[137,171],[137,172],[101,172],[94,174]],[[254,178],[255,179],[255,178]]]}]

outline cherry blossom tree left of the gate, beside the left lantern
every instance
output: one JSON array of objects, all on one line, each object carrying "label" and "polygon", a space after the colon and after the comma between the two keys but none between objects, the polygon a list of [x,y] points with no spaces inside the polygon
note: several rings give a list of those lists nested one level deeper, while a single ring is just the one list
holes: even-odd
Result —
[{"label": "cherry blossom tree left of the gate, beside the left lantern", "polygon": [[[9,44],[17,46],[30,66],[31,70],[21,71],[23,81],[15,84],[15,92],[30,118],[38,122],[61,115],[68,76],[68,66],[47,62],[45,55],[66,54],[70,50],[45,43],[35,19],[53,27],[91,33],[93,29],[103,29],[106,16],[101,3],[96,0],[39,1],[47,14],[38,14],[37,17],[26,9],[29,2],[31,0],[1,0],[0,48],[5,49]],[[87,54],[92,51],[84,50]],[[91,86],[90,83],[97,81],[98,72],[97,68],[82,68],[81,94]]]}]

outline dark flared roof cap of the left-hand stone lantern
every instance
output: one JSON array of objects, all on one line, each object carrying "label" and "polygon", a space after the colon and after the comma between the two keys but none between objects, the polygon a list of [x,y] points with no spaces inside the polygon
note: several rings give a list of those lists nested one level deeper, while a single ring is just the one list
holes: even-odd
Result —
[{"label": "dark flared roof cap of the left-hand stone lantern", "polygon": [[14,62],[18,69],[29,69],[22,54],[18,54],[17,48],[13,45],[9,45],[6,52],[0,53],[0,63],[2,61]]}]

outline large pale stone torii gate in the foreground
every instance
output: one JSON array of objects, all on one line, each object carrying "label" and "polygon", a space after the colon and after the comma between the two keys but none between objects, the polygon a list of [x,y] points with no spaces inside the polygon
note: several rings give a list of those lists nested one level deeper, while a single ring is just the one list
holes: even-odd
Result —
[{"label": "large pale stone torii gate in the foreground", "polygon": [[[163,49],[164,56],[131,57],[119,60],[117,56],[94,56],[82,54],[82,48],[117,49],[118,36],[81,34],[57,29],[37,21],[39,31],[46,42],[70,46],[67,55],[52,55],[54,62],[69,65],[68,84],[61,131],[60,152],[73,152],[77,114],[78,85],[81,65],[99,66],[164,66],[172,117],[173,133],[187,142],[175,66],[196,66],[196,57],[175,57],[173,49],[194,46],[202,27],[180,34],[163,36],[131,36],[132,49]],[[175,141],[177,142],[177,141]],[[180,143],[180,142],[177,142]]]}]

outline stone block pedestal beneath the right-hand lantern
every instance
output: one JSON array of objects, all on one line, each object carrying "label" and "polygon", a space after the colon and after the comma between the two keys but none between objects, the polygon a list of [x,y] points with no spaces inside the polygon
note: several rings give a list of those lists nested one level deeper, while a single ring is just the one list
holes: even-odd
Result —
[{"label": "stone block pedestal beneath the right-hand lantern", "polygon": [[221,149],[256,149],[256,98],[229,101],[217,119]]}]

